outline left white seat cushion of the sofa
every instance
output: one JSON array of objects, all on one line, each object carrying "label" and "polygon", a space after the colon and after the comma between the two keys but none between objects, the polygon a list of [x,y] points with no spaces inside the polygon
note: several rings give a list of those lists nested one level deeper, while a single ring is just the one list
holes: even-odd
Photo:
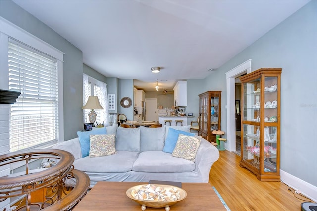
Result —
[{"label": "left white seat cushion of the sofa", "polygon": [[132,170],[133,163],[138,158],[137,152],[118,151],[117,154],[102,157],[85,157],[74,161],[77,170],[85,172],[127,172]]}]

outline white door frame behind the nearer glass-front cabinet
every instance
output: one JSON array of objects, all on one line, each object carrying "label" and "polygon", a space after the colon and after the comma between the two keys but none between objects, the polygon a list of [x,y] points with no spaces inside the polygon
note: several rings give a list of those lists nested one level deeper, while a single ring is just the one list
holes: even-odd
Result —
[{"label": "white door frame behind the nearer glass-front cabinet", "polygon": [[[237,67],[226,72],[227,82],[227,143],[224,144],[226,150],[232,152],[236,150],[236,121],[235,121],[235,78],[244,72],[251,72],[251,59],[243,62]],[[243,112],[241,112],[243,113]],[[243,118],[241,116],[241,118]]]}]

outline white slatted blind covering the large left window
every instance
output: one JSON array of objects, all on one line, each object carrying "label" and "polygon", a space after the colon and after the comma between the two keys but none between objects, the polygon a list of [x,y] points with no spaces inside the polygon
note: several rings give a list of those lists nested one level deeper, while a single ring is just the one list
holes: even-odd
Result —
[{"label": "white slatted blind covering the large left window", "polygon": [[19,91],[10,111],[10,152],[58,139],[57,60],[9,41],[9,90]]}]

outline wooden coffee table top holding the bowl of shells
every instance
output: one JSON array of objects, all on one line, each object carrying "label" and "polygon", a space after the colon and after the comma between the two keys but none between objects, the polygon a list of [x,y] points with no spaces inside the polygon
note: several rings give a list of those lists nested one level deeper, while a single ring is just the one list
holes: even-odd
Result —
[{"label": "wooden coffee table top holding the bowl of shells", "polygon": [[[97,182],[73,211],[142,211],[141,205],[126,195],[132,186],[144,182]],[[170,207],[171,211],[226,211],[210,183],[183,183],[187,197]],[[149,208],[146,211],[165,211],[164,208]]]}]

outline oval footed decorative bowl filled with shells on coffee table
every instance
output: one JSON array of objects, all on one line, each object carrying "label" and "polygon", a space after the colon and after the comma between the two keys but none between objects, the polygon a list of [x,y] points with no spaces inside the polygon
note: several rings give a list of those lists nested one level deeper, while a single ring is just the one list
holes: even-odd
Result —
[{"label": "oval footed decorative bowl filled with shells on coffee table", "polygon": [[[154,200],[142,200],[142,199],[136,199],[132,196],[132,191],[133,190],[140,190],[142,189],[142,187],[145,186],[155,186],[157,188],[159,187],[163,187],[164,190],[166,191],[170,191],[171,189],[177,189],[179,191],[179,196],[180,198],[175,200],[175,201],[154,201]],[[133,186],[131,188],[129,188],[126,191],[127,196],[132,199],[133,201],[139,203],[141,205],[141,210],[145,210],[146,207],[150,207],[150,208],[165,208],[165,211],[169,211],[170,210],[170,206],[184,200],[187,196],[187,193],[184,189],[173,186],[173,185],[162,185],[162,184],[143,184],[143,185],[137,185],[137,186]]]}]

